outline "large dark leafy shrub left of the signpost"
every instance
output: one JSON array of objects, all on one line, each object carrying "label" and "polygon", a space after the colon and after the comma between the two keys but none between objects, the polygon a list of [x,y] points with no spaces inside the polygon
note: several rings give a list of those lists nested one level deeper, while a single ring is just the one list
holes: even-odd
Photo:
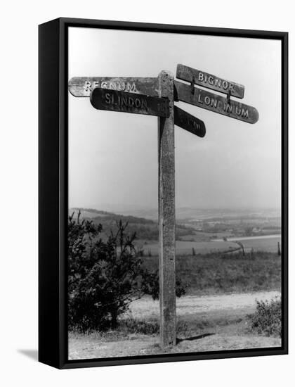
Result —
[{"label": "large dark leafy shrub left of the signpost", "polygon": [[[71,329],[91,331],[117,326],[118,316],[144,294],[159,297],[159,275],[143,268],[140,252],[126,235],[128,223],[117,223],[107,241],[100,238],[101,224],[81,220],[81,213],[68,221],[68,321]],[[185,288],[176,281],[176,295]]]}]

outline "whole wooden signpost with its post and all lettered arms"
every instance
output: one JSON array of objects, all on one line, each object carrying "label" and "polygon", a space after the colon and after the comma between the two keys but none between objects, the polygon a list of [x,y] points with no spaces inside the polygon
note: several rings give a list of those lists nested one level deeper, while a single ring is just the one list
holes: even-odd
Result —
[{"label": "whole wooden signpost with its post and all lettered arms", "polygon": [[[232,100],[242,99],[244,87],[207,72],[177,66],[177,77],[170,72],[158,77],[74,77],[69,81],[73,96],[90,97],[94,108],[122,113],[158,116],[159,165],[159,304],[162,348],[176,345],[175,274],[175,155],[174,125],[204,137],[204,122],[186,113],[174,101],[183,101],[230,118],[254,124],[258,111]],[[227,97],[195,87],[195,84],[227,94]]]}]

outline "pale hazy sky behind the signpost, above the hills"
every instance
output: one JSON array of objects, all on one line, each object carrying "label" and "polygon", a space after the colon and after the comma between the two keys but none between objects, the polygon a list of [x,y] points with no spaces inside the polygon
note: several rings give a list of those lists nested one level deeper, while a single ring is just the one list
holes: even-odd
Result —
[{"label": "pale hazy sky behind the signpost, above the hills", "polygon": [[[251,125],[176,103],[206,136],[175,127],[176,208],[280,208],[279,41],[71,27],[69,77],[176,75],[182,63],[243,84]],[[157,208],[157,118],[96,110],[69,94],[69,205]]]}]

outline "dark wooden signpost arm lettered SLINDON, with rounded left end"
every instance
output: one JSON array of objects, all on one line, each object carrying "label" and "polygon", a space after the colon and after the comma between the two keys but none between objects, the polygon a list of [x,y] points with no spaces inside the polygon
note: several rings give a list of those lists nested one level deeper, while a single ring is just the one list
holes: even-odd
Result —
[{"label": "dark wooden signpost arm lettered SLINDON, with rounded left end", "polygon": [[90,101],[99,110],[169,117],[169,101],[164,98],[97,87],[91,91]]}]

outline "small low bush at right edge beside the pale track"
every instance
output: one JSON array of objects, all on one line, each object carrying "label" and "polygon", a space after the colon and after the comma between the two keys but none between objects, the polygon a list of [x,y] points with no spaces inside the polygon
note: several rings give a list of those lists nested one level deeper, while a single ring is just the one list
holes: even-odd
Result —
[{"label": "small low bush at right edge beside the pale track", "polygon": [[251,329],[266,336],[282,336],[282,301],[273,298],[270,301],[256,300],[256,312],[249,316]]}]

